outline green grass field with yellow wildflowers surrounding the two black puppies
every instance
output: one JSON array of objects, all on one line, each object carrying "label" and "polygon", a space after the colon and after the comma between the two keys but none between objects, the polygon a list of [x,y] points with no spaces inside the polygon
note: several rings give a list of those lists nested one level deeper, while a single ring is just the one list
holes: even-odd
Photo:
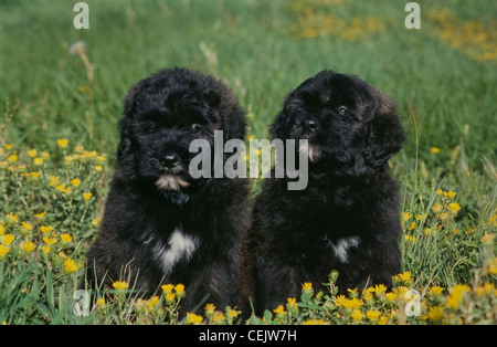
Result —
[{"label": "green grass field with yellow wildflowers surrounding the two black puppies", "polygon": [[[395,290],[338,297],[332,281],[329,293],[308,284],[252,323],[496,323],[496,1],[420,0],[419,30],[404,27],[408,1],[88,0],[88,30],[73,27],[76,2],[0,2],[0,323],[241,323],[235,307],[211,306],[178,322],[181,287],[148,302],[115,288],[73,313],[121,97],[177,65],[226,82],[255,138],[325,69],[390,94],[408,132],[391,160],[405,232]],[[71,53],[78,41],[85,53]]]}]

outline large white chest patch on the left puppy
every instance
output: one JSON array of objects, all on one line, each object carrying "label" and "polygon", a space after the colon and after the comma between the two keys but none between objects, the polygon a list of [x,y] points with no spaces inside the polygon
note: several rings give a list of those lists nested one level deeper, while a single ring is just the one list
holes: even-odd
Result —
[{"label": "large white chest patch on the left puppy", "polygon": [[177,228],[169,236],[167,244],[162,242],[156,244],[154,254],[165,275],[168,275],[179,261],[189,261],[198,245],[199,240],[197,238],[184,234],[180,228]]}]

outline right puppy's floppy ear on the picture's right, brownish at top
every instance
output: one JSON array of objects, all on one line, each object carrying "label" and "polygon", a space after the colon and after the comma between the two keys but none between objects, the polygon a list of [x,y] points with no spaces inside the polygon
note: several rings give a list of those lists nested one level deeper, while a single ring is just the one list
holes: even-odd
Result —
[{"label": "right puppy's floppy ear on the picture's right, brownish at top", "polygon": [[374,167],[383,166],[398,153],[405,140],[395,103],[387,95],[374,91],[377,102],[374,114],[366,125],[364,159]]}]

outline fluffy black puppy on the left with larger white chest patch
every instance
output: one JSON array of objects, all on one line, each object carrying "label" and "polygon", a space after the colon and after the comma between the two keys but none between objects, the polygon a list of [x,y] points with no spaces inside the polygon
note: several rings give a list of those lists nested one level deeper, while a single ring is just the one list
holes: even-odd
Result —
[{"label": "fluffy black puppy on the left with larger white chest patch", "polygon": [[243,139],[245,112],[222,82],[175,69],[133,86],[124,114],[102,229],[87,254],[88,281],[110,286],[123,278],[146,296],[162,283],[182,283],[182,314],[204,299],[235,305],[246,181],[193,179],[188,167],[193,139],[212,148],[214,130],[224,140]]}]

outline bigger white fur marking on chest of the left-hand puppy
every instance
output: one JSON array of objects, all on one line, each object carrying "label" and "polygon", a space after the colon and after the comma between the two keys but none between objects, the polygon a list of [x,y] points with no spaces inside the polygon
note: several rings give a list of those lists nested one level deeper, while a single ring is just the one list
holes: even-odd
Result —
[{"label": "bigger white fur marking on chest of the left-hand puppy", "polygon": [[[144,243],[147,243],[145,241]],[[151,238],[148,240],[151,246],[151,256],[167,276],[180,262],[192,259],[200,246],[200,239],[186,233],[181,225],[176,227],[169,238]]]}]

